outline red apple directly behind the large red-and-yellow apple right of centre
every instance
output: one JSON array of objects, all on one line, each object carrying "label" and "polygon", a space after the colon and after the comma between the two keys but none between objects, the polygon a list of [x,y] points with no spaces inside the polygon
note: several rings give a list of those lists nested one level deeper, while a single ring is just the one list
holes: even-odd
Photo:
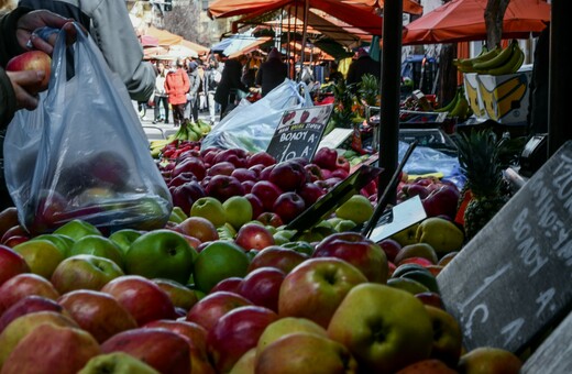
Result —
[{"label": "red apple directly behind the large red-and-yellow apple right of centre", "polygon": [[387,280],[387,256],[382,248],[359,232],[338,232],[316,245],[312,257],[338,257],[359,268],[367,280]]}]

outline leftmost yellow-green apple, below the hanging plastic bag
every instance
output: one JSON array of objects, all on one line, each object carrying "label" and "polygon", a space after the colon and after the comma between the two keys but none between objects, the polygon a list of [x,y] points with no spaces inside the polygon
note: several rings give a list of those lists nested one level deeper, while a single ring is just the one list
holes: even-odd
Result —
[{"label": "leftmost yellow-green apple, below the hanging plastic bag", "polygon": [[48,240],[29,240],[13,248],[14,252],[24,257],[30,271],[50,279],[57,265],[66,254]]}]

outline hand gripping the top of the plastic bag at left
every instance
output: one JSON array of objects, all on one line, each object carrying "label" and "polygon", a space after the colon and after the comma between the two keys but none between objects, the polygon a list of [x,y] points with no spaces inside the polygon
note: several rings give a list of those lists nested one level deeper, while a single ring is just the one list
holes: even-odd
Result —
[{"label": "hand gripping the top of the plastic bag at left", "polygon": [[40,50],[52,55],[56,43],[57,33],[43,40],[34,34],[34,31],[41,28],[64,29],[66,31],[67,43],[70,44],[76,37],[76,28],[72,23],[73,19],[66,19],[59,14],[47,10],[35,10],[22,15],[18,20],[15,35],[18,43],[25,50]]}]

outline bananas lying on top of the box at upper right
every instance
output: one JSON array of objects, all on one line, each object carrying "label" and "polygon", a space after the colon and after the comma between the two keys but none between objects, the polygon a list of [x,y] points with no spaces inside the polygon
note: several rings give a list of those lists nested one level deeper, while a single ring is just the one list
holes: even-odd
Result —
[{"label": "bananas lying on top of the box at upper right", "polygon": [[516,73],[525,61],[525,53],[513,40],[505,48],[495,46],[483,52],[473,58],[454,59],[453,64],[459,72],[477,73],[488,75],[505,75]]}]

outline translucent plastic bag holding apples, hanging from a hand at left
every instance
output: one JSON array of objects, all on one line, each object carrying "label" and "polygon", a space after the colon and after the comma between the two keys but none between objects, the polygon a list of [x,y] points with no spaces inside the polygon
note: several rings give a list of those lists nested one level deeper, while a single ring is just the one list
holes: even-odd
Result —
[{"label": "translucent plastic bag holding apples, hanging from a hand at left", "polygon": [[32,233],[74,219],[109,232],[162,228],[170,194],[127,88],[76,29],[68,47],[59,32],[37,109],[19,111],[8,128],[4,176],[20,222]]}]

